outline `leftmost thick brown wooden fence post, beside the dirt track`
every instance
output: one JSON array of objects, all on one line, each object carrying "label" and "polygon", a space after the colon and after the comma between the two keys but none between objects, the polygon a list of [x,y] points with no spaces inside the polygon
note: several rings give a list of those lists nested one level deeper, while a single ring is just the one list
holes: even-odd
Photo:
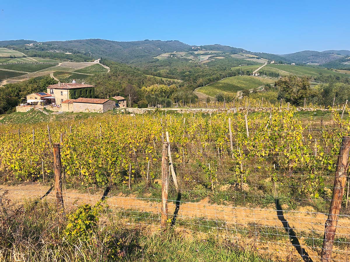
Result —
[{"label": "leftmost thick brown wooden fence post, beside the dirt track", "polygon": [[59,143],[54,144],[54,172],[55,172],[55,189],[56,189],[56,206],[58,210],[64,212],[63,195],[62,195],[62,163],[61,150]]}]

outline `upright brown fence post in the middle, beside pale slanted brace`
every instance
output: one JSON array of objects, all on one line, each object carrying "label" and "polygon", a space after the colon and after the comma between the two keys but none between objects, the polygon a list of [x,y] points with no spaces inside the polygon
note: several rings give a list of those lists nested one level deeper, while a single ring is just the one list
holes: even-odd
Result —
[{"label": "upright brown fence post in the middle, beside pale slanted brace", "polygon": [[163,142],[162,148],[162,214],[160,220],[161,228],[165,228],[168,220],[168,189],[169,189],[169,163],[168,163],[168,142]]}]

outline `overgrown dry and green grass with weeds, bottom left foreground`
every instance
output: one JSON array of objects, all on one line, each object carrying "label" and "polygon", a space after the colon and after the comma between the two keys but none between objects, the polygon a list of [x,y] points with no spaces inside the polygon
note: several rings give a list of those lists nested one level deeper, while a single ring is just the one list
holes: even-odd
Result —
[{"label": "overgrown dry and green grass with weeds, bottom left foreground", "polygon": [[66,214],[43,201],[14,205],[0,196],[0,261],[267,261],[215,234],[184,238],[172,228],[128,228],[107,206],[82,205]]}]

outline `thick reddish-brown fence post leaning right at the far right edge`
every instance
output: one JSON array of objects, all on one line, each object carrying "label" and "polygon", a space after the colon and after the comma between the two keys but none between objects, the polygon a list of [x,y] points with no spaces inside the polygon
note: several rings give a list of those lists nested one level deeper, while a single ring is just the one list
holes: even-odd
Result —
[{"label": "thick reddish-brown fence post leaning right at the far right edge", "polygon": [[330,262],[338,216],[342,207],[342,200],[346,184],[346,170],[349,167],[350,137],[343,136],[335,171],[333,197],[330,203],[328,219],[324,226],[324,238],[321,251],[321,262]]}]

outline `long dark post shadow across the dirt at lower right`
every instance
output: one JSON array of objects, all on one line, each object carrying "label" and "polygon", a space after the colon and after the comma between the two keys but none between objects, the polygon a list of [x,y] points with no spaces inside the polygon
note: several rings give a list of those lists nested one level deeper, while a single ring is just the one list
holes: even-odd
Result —
[{"label": "long dark post shadow across the dirt at lower right", "polygon": [[311,257],[309,257],[309,254],[306,252],[306,250],[304,248],[301,247],[299,240],[296,237],[296,234],[293,230],[293,228],[291,228],[289,226],[288,221],[285,219],[285,217],[283,216],[283,211],[282,211],[282,207],[280,205],[280,201],[279,199],[275,199],[276,201],[276,211],[277,211],[277,217],[278,219],[282,222],[282,225],[284,227],[284,229],[286,230],[286,232],[289,235],[289,240],[292,243],[293,247],[296,249],[296,251],[299,253],[299,255],[301,256],[301,258],[305,261],[305,262],[313,262],[313,260],[311,259]]}]

